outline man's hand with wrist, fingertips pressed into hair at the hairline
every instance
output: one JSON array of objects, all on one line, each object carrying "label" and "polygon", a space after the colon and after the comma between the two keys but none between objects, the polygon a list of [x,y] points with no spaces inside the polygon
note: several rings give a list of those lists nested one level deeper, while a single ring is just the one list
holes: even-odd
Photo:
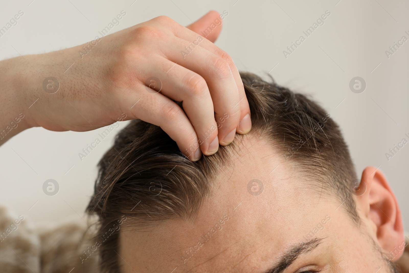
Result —
[{"label": "man's hand with wrist, fingertips pressed into hair at the hairline", "polygon": [[183,27],[159,16],[84,45],[11,59],[27,126],[89,131],[141,119],[160,126],[191,160],[215,153],[236,131],[251,129],[239,72],[212,43],[221,25],[207,38],[195,33],[215,20],[210,11]]}]

